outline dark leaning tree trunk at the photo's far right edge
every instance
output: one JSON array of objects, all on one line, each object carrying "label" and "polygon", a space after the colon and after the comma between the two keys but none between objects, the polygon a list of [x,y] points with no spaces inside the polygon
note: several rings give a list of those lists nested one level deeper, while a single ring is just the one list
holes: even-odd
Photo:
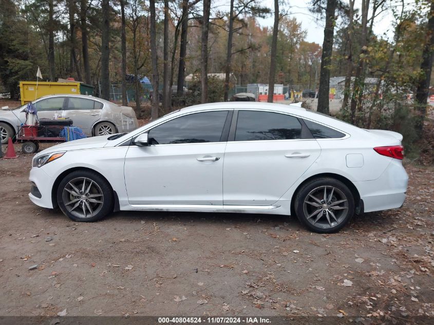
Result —
[{"label": "dark leaning tree trunk at the photo's far right edge", "polygon": [[426,43],[422,53],[421,76],[416,91],[416,131],[419,137],[423,135],[423,122],[426,116],[426,107],[429,94],[429,81],[431,77],[432,61],[434,56],[434,1],[431,1],[431,8],[428,15],[428,26],[426,29]]}]

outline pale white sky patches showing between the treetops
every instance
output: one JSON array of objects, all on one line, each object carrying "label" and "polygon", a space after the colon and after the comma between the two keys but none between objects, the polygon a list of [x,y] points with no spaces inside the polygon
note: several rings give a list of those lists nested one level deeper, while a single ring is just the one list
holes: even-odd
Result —
[{"label": "pale white sky patches showing between the treetops", "polygon": [[[297,21],[301,22],[301,26],[303,29],[307,31],[306,41],[307,42],[315,42],[319,45],[323,45],[324,39],[324,20],[318,20],[318,17],[309,12],[310,0],[288,0],[289,3],[287,8],[290,7],[289,12],[291,17],[296,17]],[[228,6],[228,9],[224,8],[224,10],[229,11],[229,1],[220,0],[221,10],[224,7]],[[274,11],[274,0],[261,0],[260,3],[264,6],[269,7],[272,11]],[[227,5],[226,5],[227,4]],[[362,0],[355,0],[355,7],[361,9]],[[273,15],[270,15],[267,18],[258,18],[258,22],[262,26],[270,26],[273,27]],[[390,12],[385,12],[375,18],[373,31],[375,34],[383,34],[386,33],[387,37],[391,37],[393,34],[393,27],[391,25],[391,21],[393,20],[393,16]],[[339,21],[338,21],[339,24]]]}]

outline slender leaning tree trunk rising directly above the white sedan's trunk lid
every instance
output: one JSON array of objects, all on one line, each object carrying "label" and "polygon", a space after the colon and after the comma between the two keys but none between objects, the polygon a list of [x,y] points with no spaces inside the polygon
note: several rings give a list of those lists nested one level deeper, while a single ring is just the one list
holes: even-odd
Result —
[{"label": "slender leaning tree trunk rising directly above the white sedan's trunk lid", "polygon": [[358,59],[358,65],[355,70],[354,85],[351,95],[351,123],[357,123],[357,104],[360,104],[363,97],[363,88],[365,83],[364,78],[364,66],[365,60],[363,59],[367,53],[367,43],[368,43],[368,12],[369,12],[369,1],[362,0],[362,50]]}]

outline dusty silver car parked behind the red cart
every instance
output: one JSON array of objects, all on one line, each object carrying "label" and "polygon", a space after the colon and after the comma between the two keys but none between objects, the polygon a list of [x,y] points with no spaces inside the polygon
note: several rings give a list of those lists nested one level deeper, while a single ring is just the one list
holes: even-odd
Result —
[{"label": "dusty silver car parked behind the red cart", "polygon": [[[135,130],[139,124],[133,108],[119,106],[88,95],[49,95],[33,101],[39,119],[69,118],[88,137]],[[0,140],[7,143],[26,123],[27,104],[11,110],[0,110]]]}]

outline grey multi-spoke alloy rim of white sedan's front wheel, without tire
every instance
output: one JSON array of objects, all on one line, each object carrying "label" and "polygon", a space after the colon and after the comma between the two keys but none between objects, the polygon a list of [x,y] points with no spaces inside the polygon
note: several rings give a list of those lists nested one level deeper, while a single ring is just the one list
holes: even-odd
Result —
[{"label": "grey multi-spoke alloy rim of white sedan's front wheel, without tire", "polygon": [[70,180],[63,189],[62,199],[68,212],[77,218],[97,215],[104,204],[101,187],[86,177]]}]

